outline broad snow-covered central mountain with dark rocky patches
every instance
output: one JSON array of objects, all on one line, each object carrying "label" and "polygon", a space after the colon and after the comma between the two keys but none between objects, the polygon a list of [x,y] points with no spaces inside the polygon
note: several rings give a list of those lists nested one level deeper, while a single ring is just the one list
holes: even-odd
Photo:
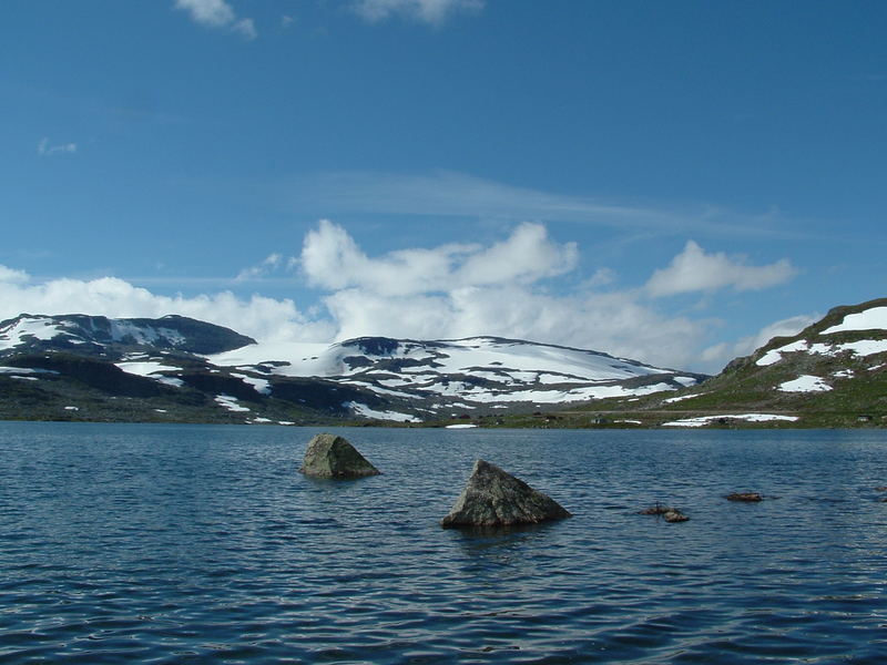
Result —
[{"label": "broad snow-covered central mountain with dark rocky patches", "polygon": [[[646,395],[703,378],[598,351],[499,337],[435,341],[361,337],[333,345],[254,345],[207,360],[277,376],[335,379],[431,415]],[[370,416],[365,405],[350,408]]]}]

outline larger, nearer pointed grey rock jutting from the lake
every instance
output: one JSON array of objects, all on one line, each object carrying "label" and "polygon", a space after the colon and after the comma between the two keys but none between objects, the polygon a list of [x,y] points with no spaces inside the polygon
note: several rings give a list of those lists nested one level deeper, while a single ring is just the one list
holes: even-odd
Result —
[{"label": "larger, nearer pointed grey rock jutting from the lake", "polygon": [[445,529],[513,526],[572,516],[560,503],[499,467],[478,460]]}]

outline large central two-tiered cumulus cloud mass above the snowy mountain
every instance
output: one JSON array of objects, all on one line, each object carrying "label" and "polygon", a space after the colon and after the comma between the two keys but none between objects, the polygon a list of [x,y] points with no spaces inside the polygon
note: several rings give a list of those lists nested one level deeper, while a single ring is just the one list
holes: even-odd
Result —
[{"label": "large central two-tiered cumulus cloud mass above the snowy mountain", "polygon": [[[573,270],[579,248],[539,224],[521,224],[489,245],[440,245],[368,256],[340,226],[320,222],[306,235],[299,265],[323,297],[336,338],[415,339],[477,335],[603,350],[682,366],[706,325],[663,316],[635,290],[552,295],[546,280]],[[592,283],[610,283],[609,270]]]}]

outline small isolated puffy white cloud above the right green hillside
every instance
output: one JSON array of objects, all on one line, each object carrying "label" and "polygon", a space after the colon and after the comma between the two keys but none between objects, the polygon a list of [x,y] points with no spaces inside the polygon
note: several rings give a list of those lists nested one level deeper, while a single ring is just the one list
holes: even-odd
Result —
[{"label": "small isolated puffy white cloud above the right green hillside", "polygon": [[788,259],[767,266],[750,266],[742,256],[723,252],[706,254],[693,241],[672,259],[667,268],[653,273],[646,283],[652,296],[672,296],[693,291],[714,291],[731,287],[734,290],[759,290],[784,284],[797,274]]}]

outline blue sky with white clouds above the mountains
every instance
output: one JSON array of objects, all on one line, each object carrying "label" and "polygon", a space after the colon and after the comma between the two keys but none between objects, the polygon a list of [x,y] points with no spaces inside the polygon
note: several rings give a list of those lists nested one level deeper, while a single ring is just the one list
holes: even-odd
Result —
[{"label": "blue sky with white clouds above the mountains", "polygon": [[716,372],[887,296],[887,3],[7,0],[0,319]]}]

